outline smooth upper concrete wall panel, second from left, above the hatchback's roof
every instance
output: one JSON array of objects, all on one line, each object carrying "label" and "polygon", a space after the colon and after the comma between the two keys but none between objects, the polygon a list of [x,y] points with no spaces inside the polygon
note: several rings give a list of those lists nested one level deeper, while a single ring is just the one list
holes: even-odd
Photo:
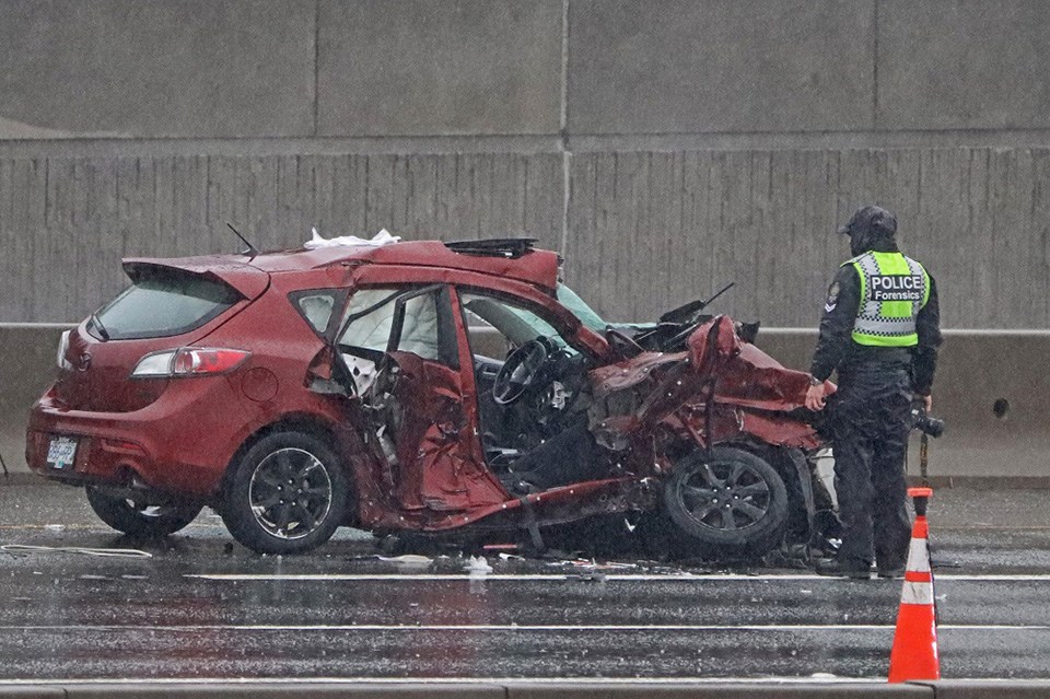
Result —
[{"label": "smooth upper concrete wall panel, second from left, above the hatchback's roof", "polygon": [[558,133],[561,18],[561,0],[324,0],[317,133]]}]

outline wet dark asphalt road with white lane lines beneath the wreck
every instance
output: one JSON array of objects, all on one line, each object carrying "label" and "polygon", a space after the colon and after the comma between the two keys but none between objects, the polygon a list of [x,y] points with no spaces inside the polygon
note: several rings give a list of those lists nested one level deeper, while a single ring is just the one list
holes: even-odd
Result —
[{"label": "wet dark asphalt road with white lane lines beneath the wreck", "polygon": [[[942,675],[1050,677],[1046,491],[931,503]],[[80,490],[0,481],[0,680],[886,676],[900,581],[631,558],[265,557],[205,513],[160,544]],[[14,547],[46,547],[25,550]],[[149,558],[58,548],[138,549]],[[475,563],[477,568],[477,563]]]}]

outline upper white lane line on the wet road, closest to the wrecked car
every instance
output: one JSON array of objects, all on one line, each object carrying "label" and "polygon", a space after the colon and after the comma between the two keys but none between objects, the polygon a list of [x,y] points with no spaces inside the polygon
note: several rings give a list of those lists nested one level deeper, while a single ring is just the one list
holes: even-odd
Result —
[{"label": "upper white lane line on the wet road, closest to the wrecked car", "polygon": [[[572,572],[559,573],[536,573],[536,574],[480,574],[470,575],[467,573],[196,573],[185,574],[184,578],[196,578],[200,580],[218,581],[563,581],[575,580],[579,578],[592,578],[600,575],[602,580],[607,582],[620,581],[662,581],[662,582],[744,582],[744,581],[828,581],[835,583],[844,582],[841,578],[830,578],[827,575],[815,574],[784,574],[784,575],[742,575],[742,574],[632,574],[632,573],[607,573],[602,570],[592,570],[581,568]],[[953,575],[936,574],[934,579],[940,581],[960,581],[960,582],[1050,582],[1050,574],[1040,575]],[[888,582],[888,581],[887,581]]]}]

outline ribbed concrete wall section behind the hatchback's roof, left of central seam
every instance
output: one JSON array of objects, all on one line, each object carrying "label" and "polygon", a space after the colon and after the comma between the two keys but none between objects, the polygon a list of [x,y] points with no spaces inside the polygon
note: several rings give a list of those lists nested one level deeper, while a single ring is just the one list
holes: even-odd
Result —
[{"label": "ribbed concrete wall section behind the hatchback's roof, left of central seam", "polygon": [[[2,5],[0,5],[2,7]],[[0,321],[69,322],[127,284],[125,256],[260,249],[382,228],[561,238],[556,154],[0,158]]]}]

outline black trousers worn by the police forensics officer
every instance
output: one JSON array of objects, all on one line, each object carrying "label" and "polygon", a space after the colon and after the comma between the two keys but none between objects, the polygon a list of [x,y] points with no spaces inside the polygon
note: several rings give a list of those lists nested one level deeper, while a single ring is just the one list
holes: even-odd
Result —
[{"label": "black trousers worn by the police forensics officer", "polygon": [[905,458],[911,429],[907,366],[839,372],[832,412],[835,489],[842,522],[838,560],[879,570],[903,564],[911,539]]}]

